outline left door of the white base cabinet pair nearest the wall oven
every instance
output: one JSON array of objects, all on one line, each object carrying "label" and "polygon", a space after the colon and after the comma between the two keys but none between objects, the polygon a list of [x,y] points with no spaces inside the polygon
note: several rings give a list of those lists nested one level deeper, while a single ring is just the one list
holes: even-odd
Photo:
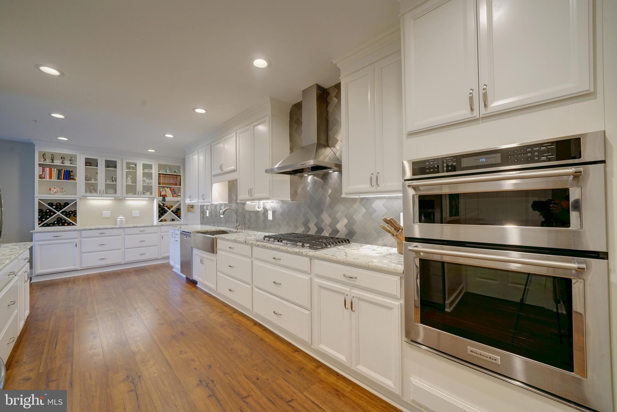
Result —
[{"label": "left door of the white base cabinet pair nearest the wall oven", "polygon": [[337,361],[350,366],[351,289],[315,280],[313,282],[313,344]]}]

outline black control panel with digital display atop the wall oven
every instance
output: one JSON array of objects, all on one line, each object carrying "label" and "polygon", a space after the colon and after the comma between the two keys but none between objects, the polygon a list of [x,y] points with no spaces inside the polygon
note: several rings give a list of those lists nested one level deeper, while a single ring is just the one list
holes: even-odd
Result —
[{"label": "black control panel with digital display atop the wall oven", "polygon": [[413,176],[581,159],[581,137],[412,161]]}]

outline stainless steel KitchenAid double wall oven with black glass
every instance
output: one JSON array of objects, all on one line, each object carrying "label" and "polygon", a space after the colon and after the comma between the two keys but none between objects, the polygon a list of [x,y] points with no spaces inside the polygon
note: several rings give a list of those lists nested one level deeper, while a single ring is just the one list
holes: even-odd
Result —
[{"label": "stainless steel KitchenAid double wall oven with black glass", "polygon": [[612,410],[604,132],[404,162],[405,337]]}]

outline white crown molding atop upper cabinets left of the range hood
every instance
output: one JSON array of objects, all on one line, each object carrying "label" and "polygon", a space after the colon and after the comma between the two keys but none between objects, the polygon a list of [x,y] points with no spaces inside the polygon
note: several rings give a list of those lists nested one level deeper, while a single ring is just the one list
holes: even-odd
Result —
[{"label": "white crown molding atop upper cabinets left of the range hood", "polygon": [[264,103],[257,104],[256,106],[251,107],[251,109],[241,112],[237,116],[227,120],[223,123],[223,125],[221,125],[221,127],[217,128],[217,130],[214,130],[205,137],[194,141],[190,145],[184,146],[184,151],[186,151],[186,153],[191,153],[205,145],[214,143],[218,139],[228,135],[229,133],[235,132],[239,128],[250,124],[254,120],[260,119],[260,117],[266,116],[267,114],[289,120],[290,109],[291,104],[275,98],[268,98],[268,100]]}]

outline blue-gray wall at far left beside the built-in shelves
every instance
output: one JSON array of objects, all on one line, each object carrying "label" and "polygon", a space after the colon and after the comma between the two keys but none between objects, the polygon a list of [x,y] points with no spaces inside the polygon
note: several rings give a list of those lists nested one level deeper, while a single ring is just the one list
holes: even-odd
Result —
[{"label": "blue-gray wall at far left beside the built-in shelves", "polygon": [[2,243],[30,242],[34,229],[35,146],[0,140]]}]

